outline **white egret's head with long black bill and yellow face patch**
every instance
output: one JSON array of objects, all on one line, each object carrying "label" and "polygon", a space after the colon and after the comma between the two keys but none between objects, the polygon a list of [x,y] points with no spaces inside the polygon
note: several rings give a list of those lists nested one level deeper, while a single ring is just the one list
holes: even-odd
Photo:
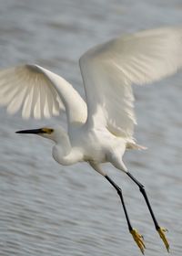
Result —
[{"label": "white egret's head with long black bill and yellow face patch", "polygon": [[45,137],[46,139],[55,140],[55,130],[53,128],[39,128],[39,129],[32,129],[32,130],[23,130],[23,131],[17,131],[15,133],[27,133],[27,134],[37,134],[42,137]]}]

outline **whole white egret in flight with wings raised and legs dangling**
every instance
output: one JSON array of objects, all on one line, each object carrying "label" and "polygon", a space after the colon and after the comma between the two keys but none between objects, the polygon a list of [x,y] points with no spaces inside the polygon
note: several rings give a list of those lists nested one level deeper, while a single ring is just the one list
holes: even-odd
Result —
[{"label": "whole white egret in flight with wings raised and legs dangling", "polygon": [[40,119],[66,111],[67,131],[45,127],[16,133],[35,133],[55,142],[53,157],[61,165],[87,162],[105,176],[121,199],[128,229],[144,253],[143,237],[128,218],[121,188],[102,166],[110,162],[129,176],[145,197],[157,232],[169,244],[144,186],[124,165],[126,149],[140,149],[133,137],[136,116],[131,84],[145,84],[174,74],[182,66],[182,28],[165,27],[118,37],[88,50],[79,60],[86,101],[70,83],[37,65],[0,71],[0,104],[19,110],[25,119]]}]

